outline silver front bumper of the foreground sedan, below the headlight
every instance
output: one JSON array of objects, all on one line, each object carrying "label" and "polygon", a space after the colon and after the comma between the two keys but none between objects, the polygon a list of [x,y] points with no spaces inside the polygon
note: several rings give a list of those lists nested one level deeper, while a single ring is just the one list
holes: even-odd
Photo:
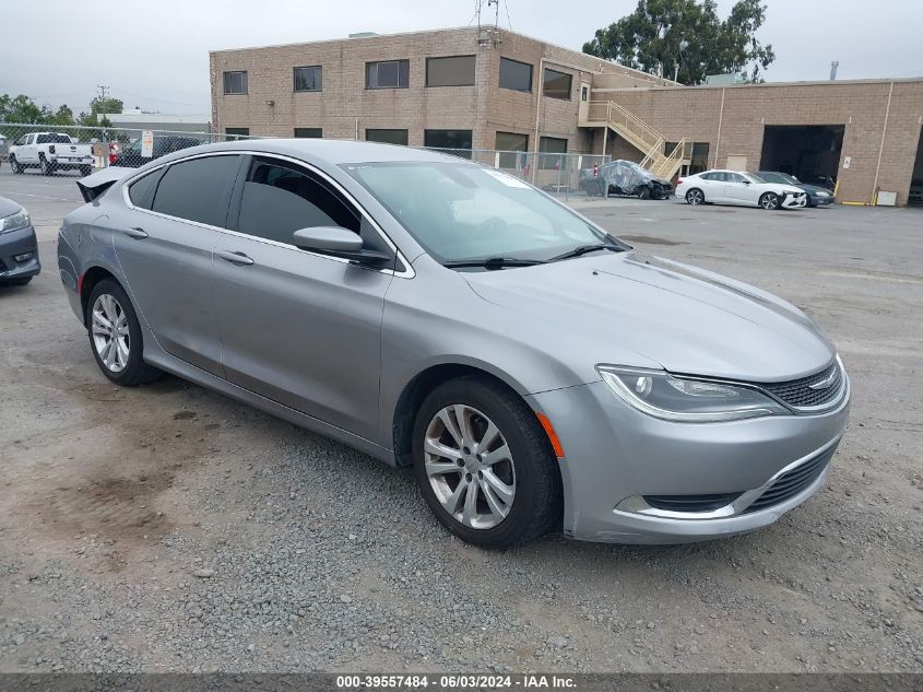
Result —
[{"label": "silver front bumper of the foreground sedan, below the headlight", "polygon": [[[759,495],[786,471],[818,455],[832,456],[849,415],[848,390],[838,409],[819,415],[709,424],[646,415],[603,383],[529,399],[552,421],[566,455],[565,535],[617,543],[682,543],[772,524],[823,486],[826,459],[795,494],[769,506],[757,503]],[[734,497],[731,506],[701,513],[651,511],[642,500],[720,494]]]}]

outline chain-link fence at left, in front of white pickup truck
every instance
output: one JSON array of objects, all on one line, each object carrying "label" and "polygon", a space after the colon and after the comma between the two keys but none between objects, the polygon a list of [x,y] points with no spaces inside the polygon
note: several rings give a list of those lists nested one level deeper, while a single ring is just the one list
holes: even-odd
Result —
[{"label": "chain-link fence at left, in front of white pickup truck", "polygon": [[0,122],[0,162],[15,174],[75,172],[88,175],[106,166],[137,168],[189,146],[246,139],[239,134],[135,130],[76,125]]}]

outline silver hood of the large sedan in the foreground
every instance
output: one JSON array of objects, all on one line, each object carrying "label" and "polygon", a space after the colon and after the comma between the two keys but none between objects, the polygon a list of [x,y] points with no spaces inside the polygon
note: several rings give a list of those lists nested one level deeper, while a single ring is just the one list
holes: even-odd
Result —
[{"label": "silver hood of the large sedan in the foreground", "polygon": [[[639,251],[463,274],[483,300],[508,308],[570,357],[677,374],[779,382],[836,355],[800,309],[754,286]],[[572,353],[579,349],[579,353]],[[630,362],[629,362],[630,361]]]}]

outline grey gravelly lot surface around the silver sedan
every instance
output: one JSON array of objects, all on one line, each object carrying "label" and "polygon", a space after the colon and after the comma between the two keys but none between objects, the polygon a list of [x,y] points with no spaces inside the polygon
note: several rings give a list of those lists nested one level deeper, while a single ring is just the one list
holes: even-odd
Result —
[{"label": "grey gravelly lot surface around the silver sedan", "polygon": [[410,473],[174,378],[114,387],[56,271],[73,178],[0,195],[46,269],[0,289],[0,670],[923,670],[923,213],[575,202],[808,312],[852,422],[760,532],[492,553]]}]

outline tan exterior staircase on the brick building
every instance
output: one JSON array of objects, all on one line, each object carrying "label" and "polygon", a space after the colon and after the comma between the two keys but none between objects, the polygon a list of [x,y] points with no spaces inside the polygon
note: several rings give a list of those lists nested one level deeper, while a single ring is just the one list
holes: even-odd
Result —
[{"label": "tan exterior staircase on the brick building", "polygon": [[612,101],[591,101],[581,113],[580,127],[607,127],[644,154],[640,164],[667,180],[688,164],[693,142],[679,140],[670,153],[664,153],[666,138],[627,108]]}]

